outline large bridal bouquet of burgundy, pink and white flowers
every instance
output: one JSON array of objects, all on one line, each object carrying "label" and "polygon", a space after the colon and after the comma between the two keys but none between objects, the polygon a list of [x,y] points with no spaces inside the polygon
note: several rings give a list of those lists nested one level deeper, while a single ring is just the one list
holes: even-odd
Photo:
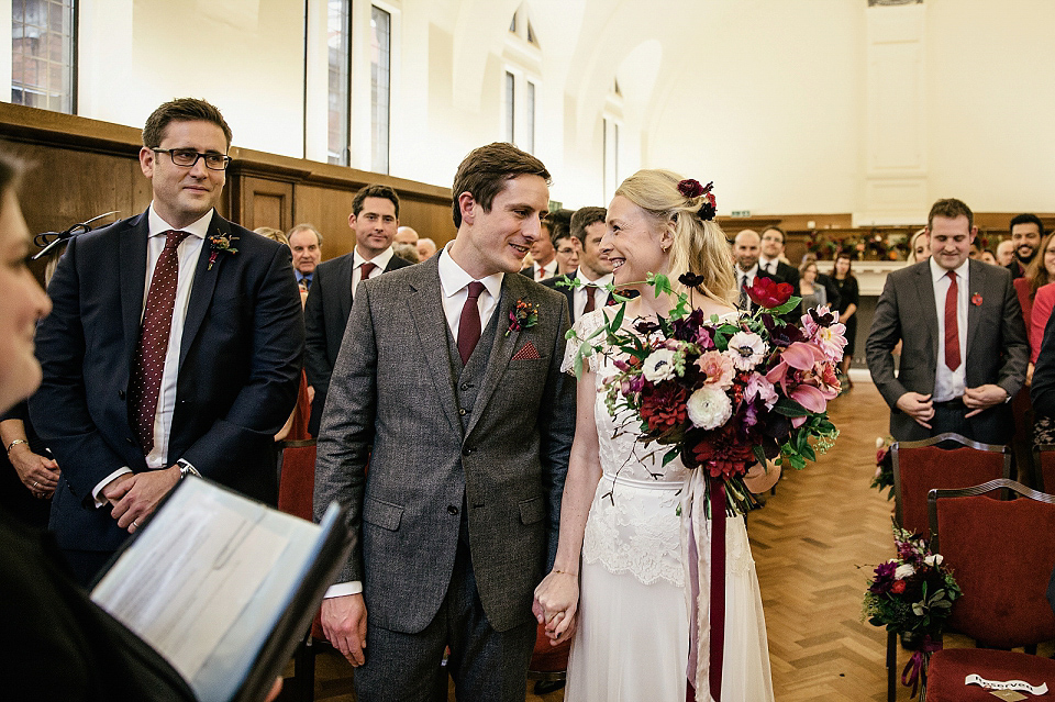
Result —
[{"label": "large bridal bouquet of burgundy, pink and white flowers", "polygon": [[[690,291],[701,282],[692,274],[678,280]],[[656,297],[674,294],[666,276],[649,275],[647,283]],[[623,305],[589,337],[568,333],[579,342],[576,375],[589,356],[611,355],[611,415],[638,423],[638,442],[656,444],[663,465],[680,457],[723,480],[730,515],[757,506],[743,482],[756,461],[779,457],[801,469],[834,442],[825,409],[840,391],[835,369],[846,345],[845,326],[826,307],[809,310],[801,326],[780,319],[800,302],[790,285],[755,278],[747,292],[759,308],[735,317],[704,316],[690,292],[677,296],[667,317],[623,328]]]}]

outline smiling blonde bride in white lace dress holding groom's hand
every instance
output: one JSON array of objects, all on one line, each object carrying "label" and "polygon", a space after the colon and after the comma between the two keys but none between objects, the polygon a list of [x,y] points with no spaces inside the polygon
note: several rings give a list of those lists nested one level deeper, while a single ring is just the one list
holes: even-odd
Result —
[{"label": "smiling blonde bride in white lace dress holding groom's hand", "polygon": [[[670,171],[641,170],[623,181],[609,205],[602,254],[612,261],[614,286],[642,293],[626,303],[628,330],[635,319],[666,316],[675,305],[670,296],[656,298],[641,282],[649,272],[666,274],[671,281],[686,271],[701,275],[693,303],[708,316],[736,314],[733,261],[713,222],[713,207],[706,196],[695,194],[699,183],[679,188],[679,182]],[[604,323],[601,315],[614,310],[582,315],[575,324],[578,337],[587,338]],[[566,370],[577,349],[578,343],[570,341]],[[567,702],[709,702],[709,580],[699,579],[693,601],[686,594],[685,561],[710,553],[711,523],[704,522],[704,533],[696,535],[692,556],[684,555],[679,506],[687,506],[682,497],[689,471],[678,459],[663,466],[662,450],[636,442],[632,417],[609,413],[604,382],[614,372],[611,359],[596,354],[578,379],[560,541],[553,570],[535,590],[536,612],[553,642],[575,636]],[[762,492],[778,476],[778,469],[766,472],[755,466],[745,482]],[[744,517],[729,517],[725,530],[721,700],[773,700],[765,620]],[[699,620],[695,637],[689,626],[693,619]],[[691,687],[687,698],[687,683],[695,686],[695,698]]]}]

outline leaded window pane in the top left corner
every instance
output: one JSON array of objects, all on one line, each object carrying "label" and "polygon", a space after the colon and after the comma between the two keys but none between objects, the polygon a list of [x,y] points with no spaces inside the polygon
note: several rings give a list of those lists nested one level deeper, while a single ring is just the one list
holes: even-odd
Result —
[{"label": "leaded window pane in the top left corner", "polygon": [[75,0],[11,3],[11,101],[74,111]]}]

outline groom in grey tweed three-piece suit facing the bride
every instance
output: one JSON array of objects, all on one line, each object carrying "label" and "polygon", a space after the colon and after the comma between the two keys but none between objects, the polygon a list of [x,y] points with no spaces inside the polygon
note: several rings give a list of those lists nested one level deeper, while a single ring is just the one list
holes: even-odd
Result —
[{"label": "groom in grey tweed three-piece suit facing the bride", "polygon": [[[454,179],[455,241],[358,288],[323,411],[315,516],[358,536],[326,593],[364,702],[523,700],[532,593],[557,545],[575,387],[568,308],[517,274],[549,174],[510,144]],[[369,461],[369,470],[367,470]]]}]

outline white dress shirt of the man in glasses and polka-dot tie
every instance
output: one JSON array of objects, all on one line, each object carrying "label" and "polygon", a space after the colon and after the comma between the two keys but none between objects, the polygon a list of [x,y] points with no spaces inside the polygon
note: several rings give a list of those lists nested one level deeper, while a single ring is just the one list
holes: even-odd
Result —
[{"label": "white dress shirt of the man in glasses and polka-dot tie", "polygon": [[[197,222],[179,229],[180,232],[187,232],[190,236],[184,238],[176,248],[176,254],[179,257],[176,303],[173,305],[173,326],[168,335],[165,370],[162,371],[162,387],[157,398],[157,410],[154,414],[154,448],[146,456],[146,466],[152,470],[168,468],[165,459],[168,456],[168,435],[173,427],[173,412],[176,409],[176,381],[179,375],[179,347],[184,336],[184,321],[187,319],[187,308],[190,304],[190,289],[195,282],[195,269],[198,266],[198,258],[201,256],[206,235],[209,233],[209,225],[212,223],[213,212],[215,210],[210,210]],[[143,314],[146,311],[146,298],[151,292],[154,268],[157,265],[157,259],[162,256],[162,252],[165,250],[166,234],[170,230],[177,229],[154,211],[153,203],[147,211],[147,223],[149,232],[146,239],[146,281],[143,287],[143,310],[140,312],[141,325]],[[100,499],[100,491],[114,478],[126,472],[132,472],[132,470],[127,466],[123,466],[103,478],[92,489],[91,494],[96,499],[96,506],[107,504],[106,498]]]}]

